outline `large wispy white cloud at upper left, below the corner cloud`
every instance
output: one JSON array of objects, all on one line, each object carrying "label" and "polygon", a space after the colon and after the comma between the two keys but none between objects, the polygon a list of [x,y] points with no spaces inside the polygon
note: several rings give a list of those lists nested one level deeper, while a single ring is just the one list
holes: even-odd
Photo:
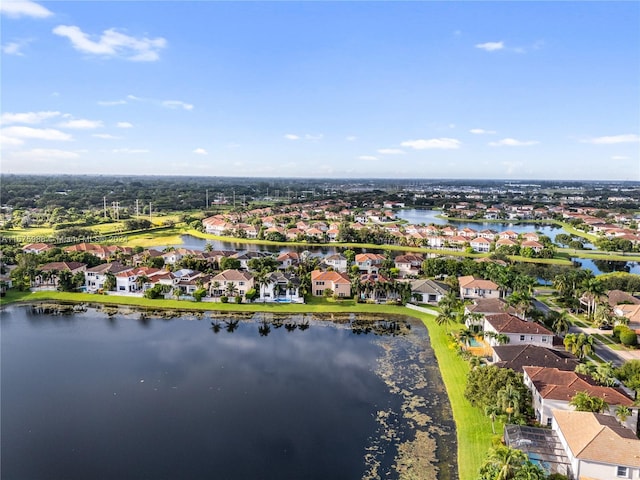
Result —
[{"label": "large wispy white cloud at upper left, below the corner cloud", "polygon": [[121,57],[134,62],[153,62],[160,58],[159,51],[167,45],[162,38],[135,38],[111,28],[102,32],[97,41],[73,25],[58,25],[53,33],[66,37],[73,48],[83,53],[105,57]]}]

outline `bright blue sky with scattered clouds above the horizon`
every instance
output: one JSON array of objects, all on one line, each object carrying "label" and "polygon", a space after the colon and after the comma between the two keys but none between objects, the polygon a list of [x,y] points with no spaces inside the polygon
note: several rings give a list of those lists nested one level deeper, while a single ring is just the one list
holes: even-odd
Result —
[{"label": "bright blue sky with scattered clouds above the horizon", "polygon": [[0,14],[4,173],[640,180],[639,2]]}]

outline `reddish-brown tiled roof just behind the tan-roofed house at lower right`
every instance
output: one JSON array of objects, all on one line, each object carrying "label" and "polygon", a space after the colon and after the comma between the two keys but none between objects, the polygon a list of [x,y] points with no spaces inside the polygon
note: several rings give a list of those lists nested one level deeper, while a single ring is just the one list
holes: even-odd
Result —
[{"label": "reddish-brown tiled roof just behind the tan-roofed house at lower right", "polygon": [[558,368],[523,367],[542,398],[570,402],[578,392],[605,400],[609,405],[633,406],[623,390],[597,385],[590,377]]}]

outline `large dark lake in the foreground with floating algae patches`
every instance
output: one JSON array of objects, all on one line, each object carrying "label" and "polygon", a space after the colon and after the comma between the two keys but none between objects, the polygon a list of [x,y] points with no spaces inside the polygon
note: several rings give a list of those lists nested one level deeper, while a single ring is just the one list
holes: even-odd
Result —
[{"label": "large dark lake in the foreground with floating algae patches", "polygon": [[2,478],[457,478],[426,330],[388,320],[5,309]]}]

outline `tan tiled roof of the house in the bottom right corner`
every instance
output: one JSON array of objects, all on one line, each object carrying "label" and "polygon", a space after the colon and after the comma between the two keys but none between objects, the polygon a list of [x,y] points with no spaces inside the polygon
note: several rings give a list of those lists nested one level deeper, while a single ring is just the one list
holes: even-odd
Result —
[{"label": "tan tiled roof of the house in the bottom right corner", "polygon": [[640,467],[640,440],[615,417],[565,410],[553,410],[553,416],[574,457]]}]

